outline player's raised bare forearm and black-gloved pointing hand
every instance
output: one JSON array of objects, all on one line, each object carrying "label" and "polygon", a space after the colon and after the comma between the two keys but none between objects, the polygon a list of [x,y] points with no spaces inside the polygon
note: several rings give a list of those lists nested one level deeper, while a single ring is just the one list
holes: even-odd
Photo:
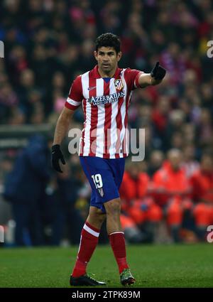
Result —
[{"label": "player's raised bare forearm and black-gloved pointing hand", "polygon": [[149,85],[158,85],[162,82],[163,77],[165,77],[165,69],[159,65],[159,62],[155,64],[155,67],[150,73],[142,73],[138,77],[138,85],[144,88]]}]

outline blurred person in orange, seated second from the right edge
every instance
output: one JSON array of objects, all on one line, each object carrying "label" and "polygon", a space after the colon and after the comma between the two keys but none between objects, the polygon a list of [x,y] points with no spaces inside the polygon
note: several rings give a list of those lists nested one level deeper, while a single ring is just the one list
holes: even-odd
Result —
[{"label": "blurred person in orange, seated second from the right edge", "polygon": [[180,242],[185,211],[191,210],[190,183],[185,169],[181,168],[182,152],[171,149],[168,160],[153,176],[153,196],[160,205],[173,236],[174,242]]}]

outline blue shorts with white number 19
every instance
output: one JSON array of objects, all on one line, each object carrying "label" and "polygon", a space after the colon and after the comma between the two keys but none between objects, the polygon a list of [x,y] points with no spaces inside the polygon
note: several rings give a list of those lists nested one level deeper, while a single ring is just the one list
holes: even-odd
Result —
[{"label": "blue shorts with white number 19", "polygon": [[106,212],[104,203],[120,196],[125,158],[80,156],[80,163],[92,188],[90,205]]}]

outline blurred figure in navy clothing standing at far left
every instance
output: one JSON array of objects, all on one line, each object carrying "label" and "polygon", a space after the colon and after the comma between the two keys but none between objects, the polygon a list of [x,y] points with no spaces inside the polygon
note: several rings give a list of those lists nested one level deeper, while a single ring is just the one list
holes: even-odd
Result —
[{"label": "blurred figure in navy clothing standing at far left", "polygon": [[17,246],[44,244],[41,205],[50,180],[49,147],[43,136],[33,136],[6,179],[4,198],[12,205]]}]

